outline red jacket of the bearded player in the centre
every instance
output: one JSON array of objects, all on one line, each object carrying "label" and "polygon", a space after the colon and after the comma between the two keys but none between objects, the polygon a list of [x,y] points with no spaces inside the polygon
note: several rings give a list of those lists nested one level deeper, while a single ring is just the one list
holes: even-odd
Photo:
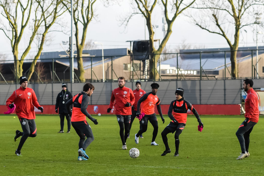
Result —
[{"label": "red jacket of the bearded player in the centre", "polygon": [[131,106],[126,107],[126,102],[131,105],[135,102],[135,97],[133,91],[130,88],[116,88],[112,91],[109,108],[113,108],[115,106],[115,114],[117,115],[131,115]]}]

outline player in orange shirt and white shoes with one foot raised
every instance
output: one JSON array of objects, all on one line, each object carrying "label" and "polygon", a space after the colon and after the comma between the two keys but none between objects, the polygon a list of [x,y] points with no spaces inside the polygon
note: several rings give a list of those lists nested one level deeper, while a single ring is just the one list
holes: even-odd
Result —
[{"label": "player in orange shirt and white shoes with one foot raised", "polygon": [[[142,121],[142,129],[140,129],[138,131],[138,133],[135,134],[136,144],[138,144],[139,134],[142,134],[145,131],[147,131],[148,121],[149,121],[154,128],[153,133],[152,133],[152,141],[151,141],[150,145],[158,145],[155,142],[155,139],[156,139],[157,134],[158,134],[158,120],[157,120],[156,114],[154,112],[155,104],[157,104],[157,109],[158,109],[159,115],[161,116],[162,122],[163,123],[165,122],[163,115],[162,115],[162,111],[161,111],[161,104],[160,104],[161,100],[156,95],[158,92],[159,84],[152,83],[150,86],[152,88],[152,92],[144,94],[139,99],[138,104],[137,104],[136,115],[139,116],[143,112],[145,115],[141,120]],[[142,103],[142,108],[141,108],[141,112],[140,112],[140,104],[141,103]]]}]

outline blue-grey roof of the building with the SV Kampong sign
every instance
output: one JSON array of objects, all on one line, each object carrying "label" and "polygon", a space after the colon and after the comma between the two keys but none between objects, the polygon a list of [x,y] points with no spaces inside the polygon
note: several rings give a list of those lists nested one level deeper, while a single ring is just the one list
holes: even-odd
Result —
[{"label": "blue-grey roof of the building with the SV Kampong sign", "polygon": [[[195,50],[180,50],[178,55],[178,68],[182,70],[200,70],[200,52],[201,65],[204,70],[221,70],[224,68],[225,62],[230,66],[230,51],[229,48],[219,49],[195,49]],[[258,54],[264,53],[264,46],[258,47]],[[229,49],[230,50],[230,49]],[[241,47],[237,51],[237,62],[242,62],[256,56],[256,47]],[[224,52],[226,51],[226,52]],[[226,55],[226,60],[225,60]],[[157,64],[159,65],[159,64]],[[177,57],[161,62],[161,69],[176,69]]]}]

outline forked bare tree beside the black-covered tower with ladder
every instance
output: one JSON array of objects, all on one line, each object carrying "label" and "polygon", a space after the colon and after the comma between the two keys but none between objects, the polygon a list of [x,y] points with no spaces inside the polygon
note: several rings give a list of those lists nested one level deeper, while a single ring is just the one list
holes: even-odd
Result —
[{"label": "forked bare tree beside the black-covered tower with ladder", "polygon": [[[165,37],[162,39],[158,49],[154,46],[154,31],[151,21],[152,12],[157,4],[157,0],[133,0],[136,3],[134,12],[124,20],[126,26],[129,20],[136,14],[142,14],[146,19],[146,24],[149,32],[149,79],[158,79],[157,62],[162,50],[164,49],[169,37],[172,33],[172,25],[175,19],[188,7],[190,7],[196,0],[161,0],[161,6],[163,6],[165,21],[168,25],[168,29]],[[171,9],[171,11],[170,11]],[[172,16],[170,15],[172,14]]]}]

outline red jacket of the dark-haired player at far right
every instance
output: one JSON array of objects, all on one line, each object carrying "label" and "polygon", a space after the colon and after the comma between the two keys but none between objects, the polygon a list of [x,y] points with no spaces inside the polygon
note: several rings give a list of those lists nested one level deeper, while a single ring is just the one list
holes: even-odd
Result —
[{"label": "red jacket of the dark-haired player at far right", "polygon": [[258,96],[253,88],[247,91],[245,99],[245,118],[249,118],[252,122],[258,122],[260,112],[258,111]]}]

